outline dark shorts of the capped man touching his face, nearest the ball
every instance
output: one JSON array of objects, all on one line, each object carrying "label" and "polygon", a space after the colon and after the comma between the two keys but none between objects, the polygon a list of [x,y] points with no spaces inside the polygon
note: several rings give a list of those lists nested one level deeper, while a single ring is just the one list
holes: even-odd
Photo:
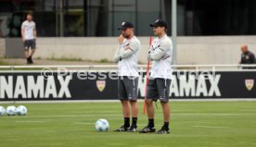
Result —
[{"label": "dark shorts of the capped man touching his face, nearest the ball", "polygon": [[118,79],[118,97],[121,101],[136,101],[138,78],[137,77],[119,77]]}]

